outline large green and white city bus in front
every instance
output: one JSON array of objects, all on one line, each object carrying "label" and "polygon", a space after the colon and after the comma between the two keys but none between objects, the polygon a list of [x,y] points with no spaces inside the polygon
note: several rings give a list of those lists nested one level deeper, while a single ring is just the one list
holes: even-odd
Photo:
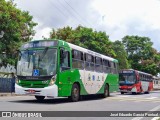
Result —
[{"label": "large green and white city bus in front", "polygon": [[16,94],[68,97],[118,91],[118,61],[62,40],[37,40],[20,48]]}]

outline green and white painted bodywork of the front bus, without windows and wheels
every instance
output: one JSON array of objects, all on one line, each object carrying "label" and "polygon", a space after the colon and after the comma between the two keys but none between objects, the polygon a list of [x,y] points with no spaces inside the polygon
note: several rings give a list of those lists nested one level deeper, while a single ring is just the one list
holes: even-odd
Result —
[{"label": "green and white painted bodywork of the front bus, without windows and wheels", "polygon": [[[48,41],[48,40],[46,40]],[[40,42],[40,41],[37,41]],[[50,41],[49,41],[50,42]],[[28,79],[19,79],[19,83],[15,85],[15,92],[17,94],[29,94],[29,95],[40,95],[40,96],[53,96],[53,97],[66,97],[71,96],[71,90],[74,83],[77,83],[80,87],[80,95],[88,95],[88,94],[103,94],[104,86],[106,84],[109,85],[109,91],[117,91],[118,90],[118,73],[117,72],[96,72],[88,71],[84,69],[73,68],[72,66],[72,49],[77,49],[83,52],[83,54],[89,53],[101,59],[106,59],[111,62],[117,63],[118,61],[101,55],[99,53],[95,53],[93,51],[81,48],[79,46],[58,40],[57,46],[54,46],[57,49],[57,65],[56,65],[56,81],[54,85],[50,85],[50,79],[45,80],[28,80]],[[51,46],[48,48],[50,49]],[[29,50],[38,50],[39,48],[29,48]],[[42,48],[41,48],[42,49]],[[44,48],[43,48],[44,49]],[[69,64],[70,68],[64,71],[61,71],[60,66],[60,54],[61,49],[69,52]],[[28,49],[27,49],[28,50]],[[43,51],[45,53],[45,50]],[[113,68],[109,68],[110,71]],[[114,68],[116,69],[116,68]],[[33,77],[33,76],[31,76]],[[34,93],[32,93],[34,91]],[[37,93],[37,91],[39,93]]]}]

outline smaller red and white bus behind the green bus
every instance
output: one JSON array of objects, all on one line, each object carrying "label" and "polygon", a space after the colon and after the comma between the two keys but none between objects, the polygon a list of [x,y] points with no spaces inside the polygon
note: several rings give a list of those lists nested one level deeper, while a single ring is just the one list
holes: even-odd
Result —
[{"label": "smaller red and white bus behind the green bus", "polygon": [[153,76],[133,69],[121,70],[119,73],[119,89],[121,94],[148,94],[153,90]]}]

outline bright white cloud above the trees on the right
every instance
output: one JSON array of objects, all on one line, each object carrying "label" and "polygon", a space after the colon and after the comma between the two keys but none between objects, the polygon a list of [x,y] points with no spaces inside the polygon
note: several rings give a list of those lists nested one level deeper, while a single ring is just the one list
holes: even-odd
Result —
[{"label": "bright white cloud above the trees on the right", "polygon": [[160,1],[97,0],[93,6],[101,16],[105,16],[101,26],[109,33],[111,40],[121,39],[125,35],[146,36],[160,50]]}]

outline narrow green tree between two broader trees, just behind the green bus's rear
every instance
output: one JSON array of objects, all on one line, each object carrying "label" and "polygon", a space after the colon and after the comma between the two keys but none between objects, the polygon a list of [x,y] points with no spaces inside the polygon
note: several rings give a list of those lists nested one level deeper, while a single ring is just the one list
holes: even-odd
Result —
[{"label": "narrow green tree between two broader trees, just behind the green bus's rear", "polygon": [[130,65],[127,60],[127,53],[125,51],[124,45],[121,41],[113,42],[113,50],[116,53],[116,59],[119,61],[119,68],[120,69],[128,69]]}]

